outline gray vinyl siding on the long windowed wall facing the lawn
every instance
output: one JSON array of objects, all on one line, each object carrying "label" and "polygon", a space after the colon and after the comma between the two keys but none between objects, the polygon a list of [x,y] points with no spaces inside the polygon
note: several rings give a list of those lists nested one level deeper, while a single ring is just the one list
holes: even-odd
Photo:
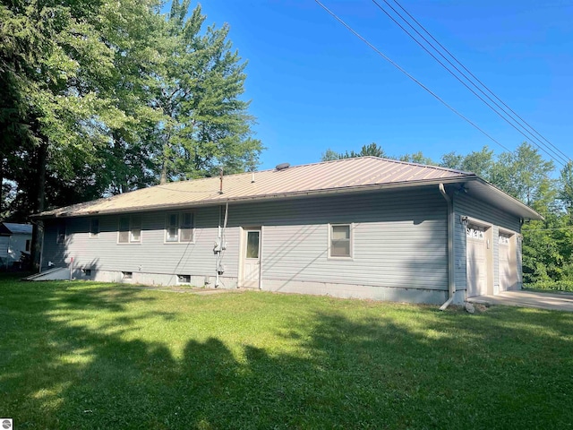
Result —
[{"label": "gray vinyl siding on the long windowed wall facing the lawn", "polygon": [[[76,267],[95,270],[214,276],[219,207],[192,211],[192,244],[165,243],[165,211],[141,214],[141,244],[117,244],[115,215],[97,217],[97,238],[90,218],[68,219],[66,246],[47,222],[43,269],[73,256]],[[352,259],[329,258],[329,223],[353,225]],[[265,280],[448,288],[447,206],[437,187],[230,204],[226,277],[238,276],[245,227],[262,227],[263,288]]]}]

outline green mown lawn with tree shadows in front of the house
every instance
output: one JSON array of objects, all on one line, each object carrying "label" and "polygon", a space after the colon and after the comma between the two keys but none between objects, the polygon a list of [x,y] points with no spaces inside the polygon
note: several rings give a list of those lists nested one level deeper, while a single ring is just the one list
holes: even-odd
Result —
[{"label": "green mown lawn with tree shadows in front of the house", "polygon": [[0,278],[15,428],[571,428],[573,314]]}]

